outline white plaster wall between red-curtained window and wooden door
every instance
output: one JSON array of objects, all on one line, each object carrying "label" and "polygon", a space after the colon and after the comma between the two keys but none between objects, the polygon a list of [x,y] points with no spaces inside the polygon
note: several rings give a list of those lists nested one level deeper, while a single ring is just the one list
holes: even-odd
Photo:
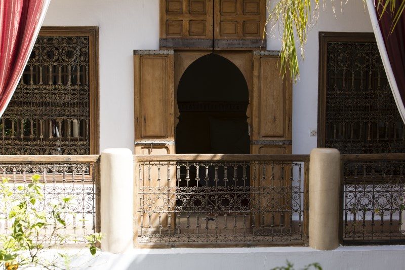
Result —
[{"label": "white plaster wall between red-curtained window and wooden door", "polygon": [[134,149],[134,49],[158,49],[159,0],[52,0],[44,25],[98,26],[100,151]]}]

